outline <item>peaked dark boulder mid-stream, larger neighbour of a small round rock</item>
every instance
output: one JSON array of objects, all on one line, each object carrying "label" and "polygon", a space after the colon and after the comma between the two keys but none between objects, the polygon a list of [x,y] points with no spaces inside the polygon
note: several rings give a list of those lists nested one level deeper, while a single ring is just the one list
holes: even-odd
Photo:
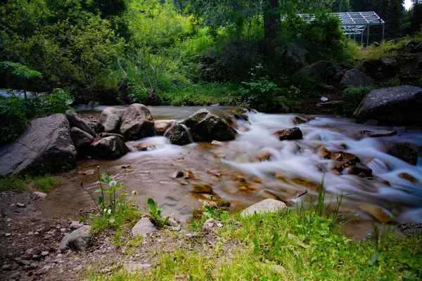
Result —
[{"label": "peaked dark boulder mid-stream, larger neighbour of a small round rock", "polygon": [[188,127],[193,141],[196,142],[231,141],[237,133],[222,117],[213,115],[206,109],[198,110],[181,124]]}]

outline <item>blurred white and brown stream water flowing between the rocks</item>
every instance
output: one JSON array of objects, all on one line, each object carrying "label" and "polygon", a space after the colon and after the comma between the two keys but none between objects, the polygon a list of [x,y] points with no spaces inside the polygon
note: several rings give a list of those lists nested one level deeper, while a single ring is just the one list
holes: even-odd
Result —
[{"label": "blurred white and brown stream water flowing between the rocks", "polygon": [[[184,119],[199,109],[150,107],[155,119]],[[226,107],[209,109],[220,115],[227,115],[231,110]],[[422,222],[421,157],[418,164],[412,166],[386,152],[391,143],[407,142],[418,148],[420,155],[421,130],[364,126],[355,124],[353,119],[340,117],[313,116],[314,119],[304,124],[296,124],[296,117],[301,115],[248,112],[248,117],[249,121],[237,120],[238,136],[234,141],[191,143],[180,147],[171,145],[165,137],[155,136],[127,142],[132,152],[120,159],[79,160],[77,169],[96,171],[100,166],[101,172],[113,174],[116,181],[123,182],[127,192],[136,190],[139,205],[144,206],[148,197],[153,197],[164,208],[165,215],[180,221],[189,221],[193,209],[198,209],[209,197],[192,192],[195,186],[211,187],[215,198],[231,203],[231,211],[239,211],[269,197],[288,202],[294,209],[296,203],[316,197],[324,175],[326,204],[331,196],[335,202],[335,197],[346,195],[340,212],[345,218],[358,218],[347,228],[354,235],[366,233],[371,221],[375,221],[362,205],[371,205],[372,209],[378,213],[381,210],[384,216],[387,214],[398,223]],[[293,126],[300,127],[303,139],[279,141],[273,136],[274,131]],[[361,133],[362,130],[385,129],[395,129],[398,134],[369,138]],[[139,143],[148,149],[138,151],[136,145]],[[333,160],[319,156],[321,146],[331,152],[357,155],[373,170],[371,178],[347,174],[347,171],[333,174]],[[185,175],[190,171],[193,178],[174,178],[178,171]],[[400,177],[402,173],[413,176],[417,182]],[[89,195],[79,184],[83,181],[84,186],[95,190],[98,188],[96,174],[65,174],[59,179],[63,187],[51,192],[43,202],[44,213],[76,218],[81,209],[87,211],[92,207]],[[298,197],[304,192],[307,193]]]}]

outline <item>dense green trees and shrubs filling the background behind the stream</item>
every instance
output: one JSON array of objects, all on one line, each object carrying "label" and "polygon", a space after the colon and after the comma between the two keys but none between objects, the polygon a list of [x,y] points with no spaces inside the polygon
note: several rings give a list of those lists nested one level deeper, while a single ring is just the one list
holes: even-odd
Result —
[{"label": "dense green trees and shrubs filling the background behind the stream", "polygon": [[199,105],[218,96],[220,105],[266,111],[306,98],[315,81],[301,67],[357,58],[332,11],[376,11],[388,39],[421,28],[419,0],[410,11],[402,0],[1,1],[0,89],[25,96],[56,89],[47,101],[32,97],[30,106],[2,97],[1,112],[11,115],[2,138],[22,131],[10,128],[25,127],[23,120],[45,115],[34,103],[57,112],[53,101],[61,108],[69,98],[74,104]]}]

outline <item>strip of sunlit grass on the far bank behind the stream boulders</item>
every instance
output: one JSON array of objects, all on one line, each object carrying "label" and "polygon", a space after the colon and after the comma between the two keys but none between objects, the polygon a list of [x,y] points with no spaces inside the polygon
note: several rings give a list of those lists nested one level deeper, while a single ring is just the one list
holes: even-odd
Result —
[{"label": "strip of sunlit grass on the far bank behind the stream boulders", "polygon": [[200,83],[178,86],[158,93],[160,105],[239,105],[240,97],[231,84]]}]

